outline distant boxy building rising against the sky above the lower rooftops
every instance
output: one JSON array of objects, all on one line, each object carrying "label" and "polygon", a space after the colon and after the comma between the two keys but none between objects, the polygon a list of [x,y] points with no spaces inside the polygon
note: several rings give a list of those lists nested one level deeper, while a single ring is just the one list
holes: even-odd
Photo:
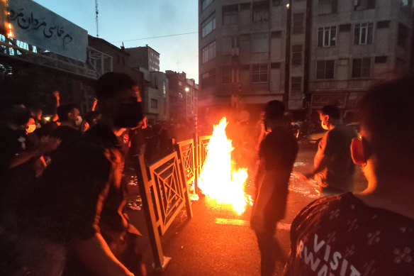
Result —
[{"label": "distant boxy building rising against the sky above the lower rooftops", "polygon": [[130,54],[130,67],[140,67],[150,72],[160,71],[160,53],[150,46],[126,48],[125,51]]}]

